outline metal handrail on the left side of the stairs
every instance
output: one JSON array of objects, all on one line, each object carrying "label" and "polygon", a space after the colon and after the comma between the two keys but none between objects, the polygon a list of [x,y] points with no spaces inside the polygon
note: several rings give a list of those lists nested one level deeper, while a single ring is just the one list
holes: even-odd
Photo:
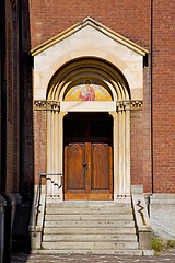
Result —
[{"label": "metal handrail on the left side of the stairs", "polygon": [[[45,178],[45,176],[47,176],[47,175],[62,176],[61,173],[42,173],[42,172],[38,172],[38,175],[39,175],[39,179],[38,179],[36,197],[35,197],[35,204],[34,204],[34,237],[36,237],[37,209],[38,209],[38,207],[39,207],[40,181],[42,181],[42,178]],[[60,188],[61,186],[62,186],[62,181],[61,181],[61,184],[58,186],[58,188]]]}]

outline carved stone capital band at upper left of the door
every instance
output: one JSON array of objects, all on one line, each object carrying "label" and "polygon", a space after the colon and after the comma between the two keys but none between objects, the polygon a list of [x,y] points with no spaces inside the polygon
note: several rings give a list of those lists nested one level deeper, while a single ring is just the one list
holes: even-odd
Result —
[{"label": "carved stone capital band at upper left of the door", "polygon": [[35,111],[60,111],[60,103],[58,101],[37,100],[34,101]]}]

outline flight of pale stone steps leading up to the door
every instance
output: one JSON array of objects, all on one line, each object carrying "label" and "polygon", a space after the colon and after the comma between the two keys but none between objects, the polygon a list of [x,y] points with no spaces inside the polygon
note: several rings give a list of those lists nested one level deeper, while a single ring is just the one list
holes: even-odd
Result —
[{"label": "flight of pale stone steps leading up to the door", "polygon": [[142,255],[137,239],[131,202],[46,204],[44,253]]}]

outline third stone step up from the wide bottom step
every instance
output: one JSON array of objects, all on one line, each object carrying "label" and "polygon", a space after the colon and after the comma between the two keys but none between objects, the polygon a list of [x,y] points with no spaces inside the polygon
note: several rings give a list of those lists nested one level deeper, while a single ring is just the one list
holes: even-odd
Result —
[{"label": "third stone step up from the wide bottom step", "polygon": [[44,235],[43,241],[50,242],[116,242],[137,241],[136,235]]}]

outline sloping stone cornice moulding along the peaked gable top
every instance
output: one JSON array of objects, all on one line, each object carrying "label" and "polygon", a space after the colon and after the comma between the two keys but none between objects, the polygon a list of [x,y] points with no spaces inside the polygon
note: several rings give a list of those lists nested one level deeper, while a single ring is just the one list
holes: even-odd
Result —
[{"label": "sloping stone cornice moulding along the peaked gable top", "polygon": [[[85,27],[93,28],[96,33],[102,34],[105,38],[110,38],[114,42],[117,42],[118,44],[128,47],[129,49],[138,53],[139,55],[144,56],[149,52],[145,48],[140,47],[139,45],[135,44],[133,42],[127,39],[126,37],[121,36],[120,34],[112,31],[110,28],[106,27],[105,25],[98,23],[94,19],[88,16],[81,22],[74,24],[73,26],[69,27],[68,30],[61,32],[60,34],[51,37],[50,39],[44,42],[39,46],[33,48],[31,50],[31,55],[35,56],[49,47],[56,45],[59,42],[65,41],[66,38],[69,38],[70,36],[80,33],[80,31],[83,31]],[[94,37],[90,35],[90,37]],[[94,39],[95,41],[95,39]]]}]

